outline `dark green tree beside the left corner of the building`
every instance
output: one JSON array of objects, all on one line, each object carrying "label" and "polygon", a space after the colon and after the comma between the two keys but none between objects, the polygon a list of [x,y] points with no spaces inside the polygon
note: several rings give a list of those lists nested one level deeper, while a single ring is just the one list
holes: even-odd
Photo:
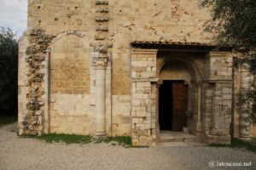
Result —
[{"label": "dark green tree beside the left corner of the building", "polygon": [[0,114],[17,113],[18,42],[15,33],[0,28]]}]

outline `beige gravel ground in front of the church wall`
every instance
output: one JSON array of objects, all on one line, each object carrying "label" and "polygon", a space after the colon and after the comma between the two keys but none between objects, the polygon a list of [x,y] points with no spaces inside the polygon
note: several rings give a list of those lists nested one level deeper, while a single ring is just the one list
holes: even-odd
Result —
[{"label": "beige gravel ground in front of the church wall", "polygon": [[[15,128],[15,124],[0,127],[1,170],[256,169],[256,155],[246,150],[192,145],[126,149],[110,144],[47,144],[20,139]],[[210,168],[209,161],[252,162],[252,166]]]}]

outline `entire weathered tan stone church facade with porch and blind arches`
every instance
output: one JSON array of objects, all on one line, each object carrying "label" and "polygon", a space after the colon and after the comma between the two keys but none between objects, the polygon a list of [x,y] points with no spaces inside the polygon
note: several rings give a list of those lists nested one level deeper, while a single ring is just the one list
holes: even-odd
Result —
[{"label": "entire weathered tan stone church facade with porch and blind arches", "polygon": [[[131,136],[162,130],[206,143],[251,138],[240,55],[216,50],[196,0],[29,0],[20,38],[19,133]],[[256,130],[254,130],[255,133]]]}]

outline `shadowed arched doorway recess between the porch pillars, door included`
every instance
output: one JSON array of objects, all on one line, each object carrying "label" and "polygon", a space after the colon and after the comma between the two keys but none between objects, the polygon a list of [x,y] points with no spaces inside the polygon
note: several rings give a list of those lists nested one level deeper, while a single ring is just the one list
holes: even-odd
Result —
[{"label": "shadowed arched doorway recess between the porch pillars, door included", "polygon": [[[161,84],[158,88],[160,130],[181,131],[183,127],[188,127],[191,133],[195,133],[195,122],[201,107],[198,103],[201,98],[198,84],[201,83],[203,77],[202,65],[200,57],[193,57],[191,54],[165,53],[158,55],[157,77]],[[165,104],[166,101],[167,104]],[[182,107],[182,111],[177,107]],[[180,112],[178,113],[179,117],[183,115],[183,121],[178,122],[179,118],[175,115],[175,111]],[[172,116],[165,116],[167,112],[172,113]],[[171,122],[165,122],[166,119]],[[168,127],[168,123],[172,127]]]}]

